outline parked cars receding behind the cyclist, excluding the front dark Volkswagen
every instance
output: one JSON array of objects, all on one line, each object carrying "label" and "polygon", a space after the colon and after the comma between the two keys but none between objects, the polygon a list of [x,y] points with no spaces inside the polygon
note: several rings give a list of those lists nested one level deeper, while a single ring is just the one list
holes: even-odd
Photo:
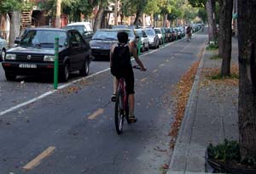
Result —
[{"label": "parked cars receding behind the cyclist, excluding the front dark Volkswagen", "polygon": [[[96,31],[90,41],[91,55],[94,59],[102,58],[102,56],[108,59],[111,46],[118,42],[117,33],[119,31],[127,32],[130,45],[137,50],[140,49],[141,52],[147,51],[149,48],[159,48],[165,42],[172,42],[185,36],[183,27],[131,28],[127,25],[116,25],[112,29],[100,29]],[[138,48],[139,45],[140,48]]]}]

